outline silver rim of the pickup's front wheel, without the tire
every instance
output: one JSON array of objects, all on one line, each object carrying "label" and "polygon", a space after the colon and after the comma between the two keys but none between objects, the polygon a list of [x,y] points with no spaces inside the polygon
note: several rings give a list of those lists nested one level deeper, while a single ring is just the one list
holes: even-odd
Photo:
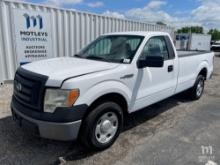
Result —
[{"label": "silver rim of the pickup's front wheel, without the tire", "polygon": [[118,130],[118,117],[114,112],[102,115],[96,124],[95,137],[99,143],[108,143]]}]

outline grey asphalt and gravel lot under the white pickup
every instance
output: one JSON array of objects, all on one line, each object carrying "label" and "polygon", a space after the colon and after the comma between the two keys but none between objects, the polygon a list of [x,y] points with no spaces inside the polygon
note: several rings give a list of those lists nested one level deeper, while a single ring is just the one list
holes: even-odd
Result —
[{"label": "grey asphalt and gravel lot under the white pickup", "polygon": [[119,139],[102,152],[20,129],[11,117],[11,95],[11,85],[0,88],[0,164],[220,163],[220,56],[200,100],[177,95],[128,116]]}]

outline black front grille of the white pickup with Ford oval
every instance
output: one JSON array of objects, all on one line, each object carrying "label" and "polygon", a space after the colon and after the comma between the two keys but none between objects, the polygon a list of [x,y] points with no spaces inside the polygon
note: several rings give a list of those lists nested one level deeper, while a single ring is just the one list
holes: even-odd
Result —
[{"label": "black front grille of the white pickup with Ford oval", "polygon": [[43,110],[45,83],[48,77],[19,68],[14,79],[14,97],[26,107]]}]

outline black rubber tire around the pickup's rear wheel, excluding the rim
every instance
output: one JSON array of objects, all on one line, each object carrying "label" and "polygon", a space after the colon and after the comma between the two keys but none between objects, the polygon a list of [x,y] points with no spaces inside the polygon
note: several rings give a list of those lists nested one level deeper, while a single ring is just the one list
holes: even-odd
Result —
[{"label": "black rubber tire around the pickup's rear wheel, excluding the rim", "polygon": [[[200,92],[198,92],[199,85],[201,86]],[[189,90],[189,94],[192,100],[198,100],[203,94],[205,86],[205,77],[199,75],[196,79],[194,86]]]}]

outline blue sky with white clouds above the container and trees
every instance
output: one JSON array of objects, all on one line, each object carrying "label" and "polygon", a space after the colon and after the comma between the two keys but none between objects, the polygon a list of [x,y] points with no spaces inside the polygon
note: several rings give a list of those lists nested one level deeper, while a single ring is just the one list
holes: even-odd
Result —
[{"label": "blue sky with white clouds above the container and trees", "polygon": [[171,26],[220,29],[220,0],[26,0]]}]

